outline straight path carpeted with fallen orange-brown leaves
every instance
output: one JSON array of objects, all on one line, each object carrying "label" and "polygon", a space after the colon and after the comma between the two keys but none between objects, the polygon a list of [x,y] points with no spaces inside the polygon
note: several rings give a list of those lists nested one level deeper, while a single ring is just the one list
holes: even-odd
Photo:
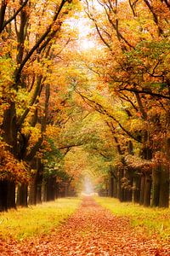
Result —
[{"label": "straight path carpeted with fallen orange-brown leaves", "polygon": [[91,197],[50,234],[24,241],[0,241],[0,255],[134,256],[170,255],[170,245],[133,230],[127,217],[114,216]]}]

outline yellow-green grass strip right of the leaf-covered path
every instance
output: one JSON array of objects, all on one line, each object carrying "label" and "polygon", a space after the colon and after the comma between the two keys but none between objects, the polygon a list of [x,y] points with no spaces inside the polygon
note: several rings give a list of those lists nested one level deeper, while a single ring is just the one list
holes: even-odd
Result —
[{"label": "yellow-green grass strip right of the leaf-covered path", "polygon": [[111,210],[116,216],[129,218],[133,228],[156,234],[163,240],[170,239],[170,209],[141,207],[133,203],[123,203],[113,198],[95,197],[101,206]]}]

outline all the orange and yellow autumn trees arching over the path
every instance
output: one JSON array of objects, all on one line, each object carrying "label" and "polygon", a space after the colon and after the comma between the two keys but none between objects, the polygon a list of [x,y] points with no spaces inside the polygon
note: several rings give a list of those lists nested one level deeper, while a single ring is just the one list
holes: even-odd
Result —
[{"label": "all the orange and yellow autumn trees arching over the path", "polygon": [[89,177],[168,207],[169,22],[164,0],[2,0],[0,210]]}]

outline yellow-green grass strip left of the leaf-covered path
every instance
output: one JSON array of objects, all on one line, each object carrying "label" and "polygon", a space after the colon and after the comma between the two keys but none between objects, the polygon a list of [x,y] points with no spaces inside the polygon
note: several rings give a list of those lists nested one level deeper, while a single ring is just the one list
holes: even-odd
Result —
[{"label": "yellow-green grass strip left of the leaf-covered path", "polygon": [[35,207],[0,212],[0,236],[23,240],[47,234],[75,212],[80,202],[78,198],[62,198]]}]

